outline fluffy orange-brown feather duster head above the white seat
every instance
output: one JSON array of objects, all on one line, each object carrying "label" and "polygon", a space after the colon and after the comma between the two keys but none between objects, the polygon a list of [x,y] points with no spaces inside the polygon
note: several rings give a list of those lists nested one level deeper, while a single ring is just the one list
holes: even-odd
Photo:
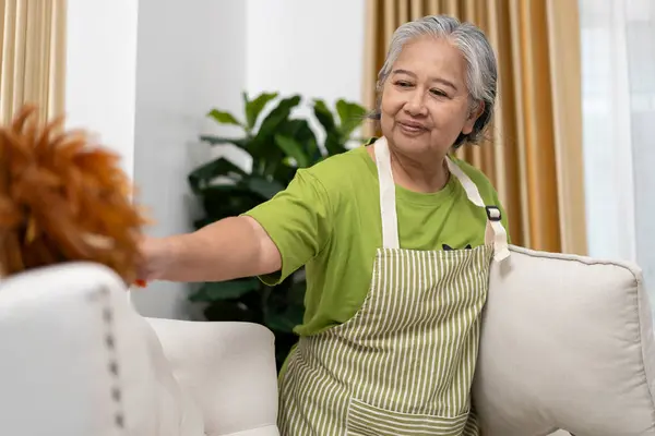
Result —
[{"label": "fluffy orange-brown feather duster head above the white seat", "polygon": [[94,262],[132,283],[146,220],[120,158],[61,122],[24,107],[0,128],[0,268]]}]

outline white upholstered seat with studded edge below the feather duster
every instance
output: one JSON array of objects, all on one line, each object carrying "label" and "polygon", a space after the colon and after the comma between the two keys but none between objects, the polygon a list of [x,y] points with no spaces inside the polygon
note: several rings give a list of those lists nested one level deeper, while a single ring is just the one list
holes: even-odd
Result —
[{"label": "white upholstered seat with studded edge below the feather duster", "polygon": [[277,436],[273,335],[141,317],[93,264],[0,286],[0,434]]}]

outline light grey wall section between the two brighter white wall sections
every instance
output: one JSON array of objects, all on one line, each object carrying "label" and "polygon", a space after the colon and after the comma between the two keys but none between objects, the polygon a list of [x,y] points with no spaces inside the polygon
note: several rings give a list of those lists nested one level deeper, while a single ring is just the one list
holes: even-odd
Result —
[{"label": "light grey wall section between the two brighter white wall sections", "polygon": [[[151,210],[151,234],[191,230],[193,201],[187,174],[207,147],[214,105],[241,110],[246,8],[240,1],[140,0],[134,174]],[[188,287],[156,282],[133,293],[144,315],[186,318]]]}]

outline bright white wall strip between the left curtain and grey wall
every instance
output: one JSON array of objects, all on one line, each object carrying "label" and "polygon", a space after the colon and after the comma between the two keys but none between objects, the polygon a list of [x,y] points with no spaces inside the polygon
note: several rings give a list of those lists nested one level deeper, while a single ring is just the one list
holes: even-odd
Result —
[{"label": "bright white wall strip between the left curtain and grey wall", "polygon": [[[67,126],[84,128],[133,174],[135,0],[68,0]],[[117,32],[120,29],[120,32]]]}]

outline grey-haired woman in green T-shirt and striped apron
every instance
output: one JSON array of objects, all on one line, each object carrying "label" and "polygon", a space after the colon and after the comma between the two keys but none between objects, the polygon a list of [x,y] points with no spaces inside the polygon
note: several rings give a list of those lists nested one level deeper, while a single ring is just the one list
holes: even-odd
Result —
[{"label": "grey-haired woman in green T-shirt and striped apron", "polygon": [[144,242],[151,280],[275,284],[306,266],[283,435],[478,434],[469,389],[507,222],[489,181],[449,153],[483,133],[496,87],[478,28],[404,24],[379,74],[382,137],[299,170],[243,216]]}]

